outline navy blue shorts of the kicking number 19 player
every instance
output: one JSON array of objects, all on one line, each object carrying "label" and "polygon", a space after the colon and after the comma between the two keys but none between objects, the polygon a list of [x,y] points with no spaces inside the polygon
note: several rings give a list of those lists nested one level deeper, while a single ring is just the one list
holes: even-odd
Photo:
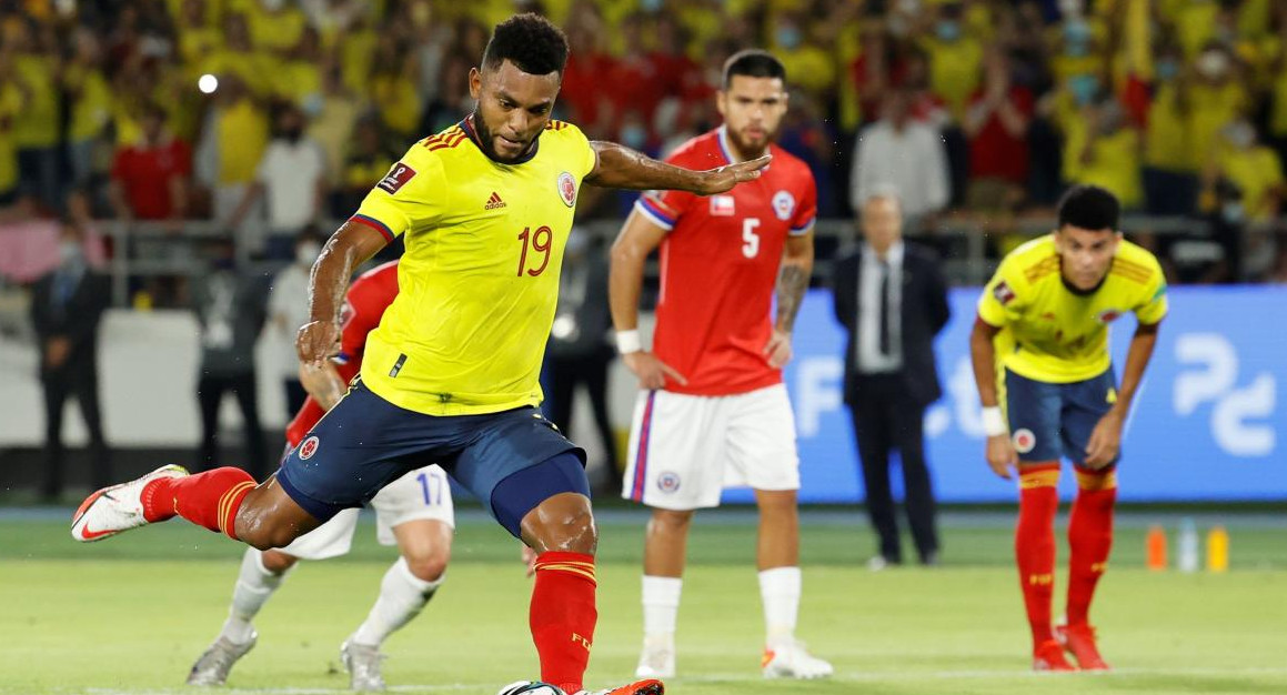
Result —
[{"label": "navy blue shorts of the kicking number 19 player", "polygon": [[[355,380],[286,456],[277,481],[304,511],[326,521],[340,510],[366,506],[405,472],[438,463],[493,516],[503,517],[494,507],[497,486],[564,453],[584,466],[586,452],[537,408],[429,416],[394,405]],[[584,468],[564,477],[571,480],[564,483],[566,492],[588,492]],[[515,533],[510,526],[506,524]]]}]

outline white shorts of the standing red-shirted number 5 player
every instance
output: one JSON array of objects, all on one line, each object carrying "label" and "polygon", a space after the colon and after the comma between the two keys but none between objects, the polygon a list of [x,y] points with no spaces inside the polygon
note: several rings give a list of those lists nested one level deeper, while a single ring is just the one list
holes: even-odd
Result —
[{"label": "white shorts of the standing red-shirted number 5 player", "polygon": [[730,396],[641,391],[622,497],[663,510],[718,507],[725,488],[797,490],[786,386]]}]

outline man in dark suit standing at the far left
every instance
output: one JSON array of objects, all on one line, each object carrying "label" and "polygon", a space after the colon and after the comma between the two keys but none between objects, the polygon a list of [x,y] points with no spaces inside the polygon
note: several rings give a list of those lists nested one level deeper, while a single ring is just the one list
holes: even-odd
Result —
[{"label": "man in dark suit standing at the far left", "polygon": [[89,430],[90,484],[112,479],[98,405],[98,324],[111,300],[107,275],[85,261],[84,230],[66,221],[59,264],[32,286],[31,322],[40,345],[40,384],[45,390],[45,481],[41,494],[54,501],[63,488],[63,405],[75,395]]}]

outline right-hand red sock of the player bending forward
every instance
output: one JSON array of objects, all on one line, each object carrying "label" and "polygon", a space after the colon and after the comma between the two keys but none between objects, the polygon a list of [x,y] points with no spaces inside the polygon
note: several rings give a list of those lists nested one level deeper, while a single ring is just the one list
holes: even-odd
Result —
[{"label": "right-hand red sock of the player bending forward", "polygon": [[1068,624],[1085,624],[1095,584],[1108,566],[1113,547],[1113,506],[1117,472],[1077,468],[1077,499],[1068,520]]}]

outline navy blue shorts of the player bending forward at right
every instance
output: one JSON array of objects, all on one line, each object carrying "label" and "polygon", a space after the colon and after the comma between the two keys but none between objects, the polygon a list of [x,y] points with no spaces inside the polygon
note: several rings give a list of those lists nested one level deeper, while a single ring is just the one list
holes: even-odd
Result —
[{"label": "navy blue shorts of the player bending forward at right", "polygon": [[1090,432],[1116,400],[1112,368],[1071,384],[1036,381],[1006,369],[1005,412],[1019,462],[1058,461],[1063,454],[1082,465]]}]

